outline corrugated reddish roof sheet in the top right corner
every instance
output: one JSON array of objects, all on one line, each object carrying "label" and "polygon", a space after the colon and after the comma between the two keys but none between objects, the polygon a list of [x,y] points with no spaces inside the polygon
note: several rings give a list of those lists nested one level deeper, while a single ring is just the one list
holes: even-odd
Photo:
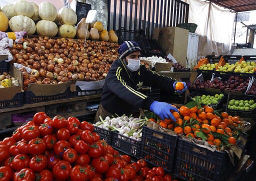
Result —
[{"label": "corrugated reddish roof sheet in the top right corner", "polygon": [[209,0],[235,12],[255,10],[256,0]]}]

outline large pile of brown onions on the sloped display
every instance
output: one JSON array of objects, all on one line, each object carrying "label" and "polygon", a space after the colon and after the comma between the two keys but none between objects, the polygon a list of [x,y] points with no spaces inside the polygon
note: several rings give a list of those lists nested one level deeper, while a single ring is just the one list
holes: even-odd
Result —
[{"label": "large pile of brown onions on the sloped display", "polygon": [[11,63],[20,63],[23,88],[29,83],[62,83],[70,79],[96,81],[104,79],[111,63],[118,57],[119,45],[106,41],[57,38],[26,38],[10,49]]}]

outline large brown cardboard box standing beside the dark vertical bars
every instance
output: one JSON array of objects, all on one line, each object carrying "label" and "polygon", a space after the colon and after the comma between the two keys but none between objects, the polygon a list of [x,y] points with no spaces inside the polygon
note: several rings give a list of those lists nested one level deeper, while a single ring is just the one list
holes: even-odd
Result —
[{"label": "large brown cardboard box standing beside the dark vertical bars", "polygon": [[159,44],[165,54],[171,54],[181,64],[186,65],[189,30],[180,27],[153,28],[152,39]]}]

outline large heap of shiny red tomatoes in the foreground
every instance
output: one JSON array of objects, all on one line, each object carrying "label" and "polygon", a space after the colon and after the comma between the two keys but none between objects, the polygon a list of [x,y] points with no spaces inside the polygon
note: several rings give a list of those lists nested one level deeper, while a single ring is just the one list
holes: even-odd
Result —
[{"label": "large heap of shiny red tomatoes in the foreground", "polygon": [[0,141],[0,180],[171,180],[162,167],[131,163],[93,129],[75,117],[35,113]]}]

